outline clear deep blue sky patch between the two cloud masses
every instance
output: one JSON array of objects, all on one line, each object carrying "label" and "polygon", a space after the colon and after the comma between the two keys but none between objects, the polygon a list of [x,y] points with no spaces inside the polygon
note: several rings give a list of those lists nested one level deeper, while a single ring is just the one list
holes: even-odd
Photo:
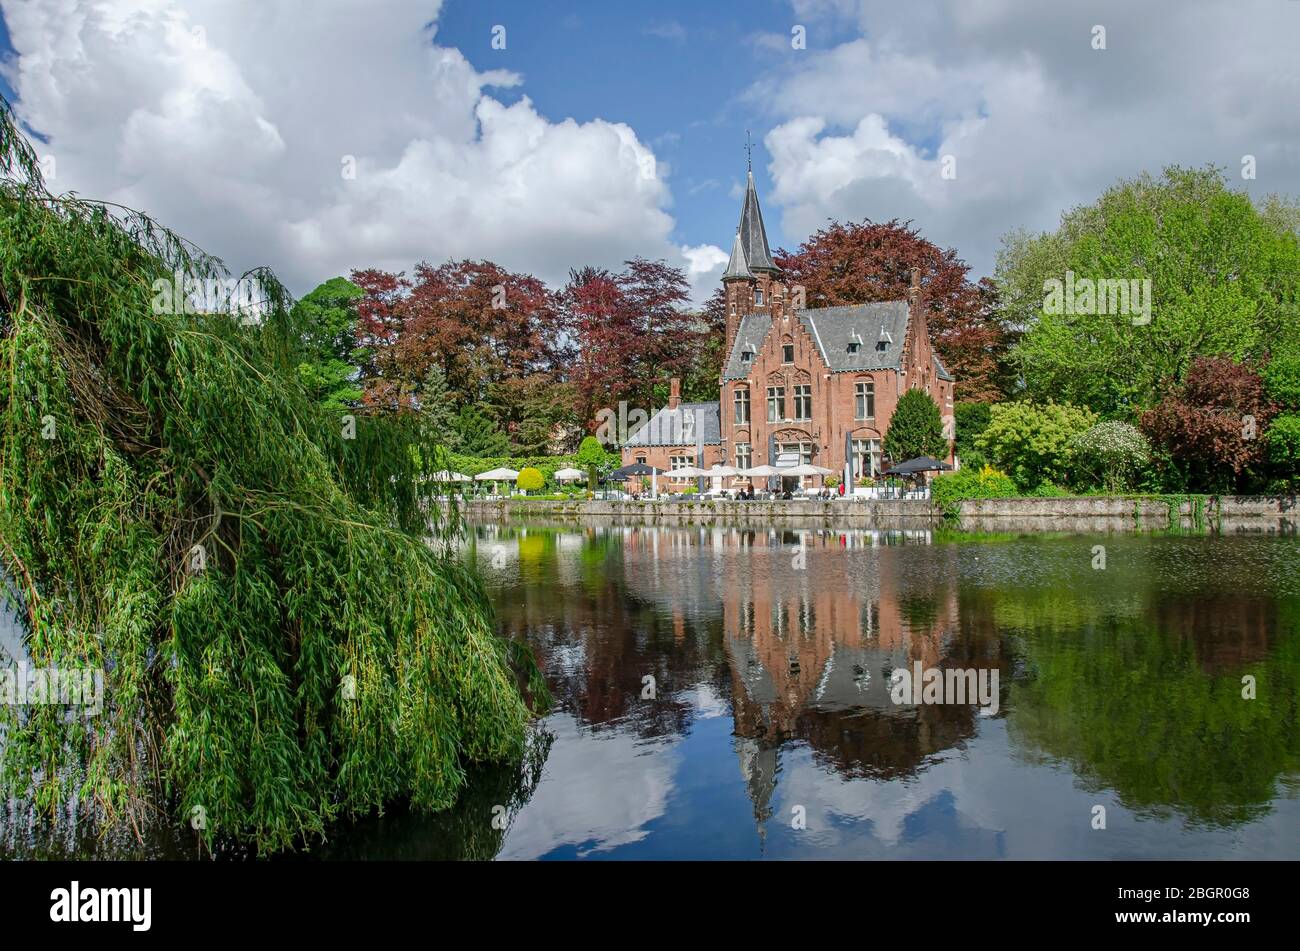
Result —
[{"label": "clear deep blue sky patch between the two cloud masses", "polygon": [[[438,42],[459,48],[478,69],[520,73],[524,84],[499,94],[506,101],[528,95],[551,118],[630,125],[668,162],[675,238],[728,246],[740,218],[734,190],[745,181],[746,130],[760,194],[771,191],[762,142],[771,120],[745,94],[774,60],[755,36],[789,31],[789,4],[586,0],[564,6],[569,12],[556,14],[546,4],[455,0],[438,21]],[[503,51],[489,45],[497,23],[507,26]],[[852,32],[823,23],[809,47]],[[779,217],[767,227],[774,247],[803,238],[786,238]]]}]

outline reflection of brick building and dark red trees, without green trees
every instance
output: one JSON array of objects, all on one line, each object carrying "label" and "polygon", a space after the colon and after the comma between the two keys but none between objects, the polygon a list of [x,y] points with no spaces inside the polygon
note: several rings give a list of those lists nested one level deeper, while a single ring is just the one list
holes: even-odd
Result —
[{"label": "reflection of brick building and dark red trees, without green trees", "polygon": [[972,705],[889,696],[900,665],[1002,666],[991,625],[963,631],[956,547],[914,534],[589,529],[581,550],[547,543],[560,563],[550,582],[521,568],[495,600],[560,705],[592,728],[685,733],[689,690],[729,695],[762,828],[785,743],[846,776],[898,777],[975,733]]}]

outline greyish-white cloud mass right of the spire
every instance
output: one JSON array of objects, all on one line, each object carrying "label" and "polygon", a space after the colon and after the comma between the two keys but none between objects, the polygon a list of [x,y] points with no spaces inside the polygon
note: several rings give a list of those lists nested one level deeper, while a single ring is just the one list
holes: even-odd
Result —
[{"label": "greyish-white cloud mass right of the spire", "polygon": [[[978,273],[1001,235],[1050,229],[1108,184],[1216,164],[1300,192],[1300,4],[793,0],[809,49],[754,83],[788,235],[911,218]],[[859,34],[823,43],[849,23]],[[1093,48],[1105,27],[1105,49]],[[944,177],[944,157],[956,177]]]}]

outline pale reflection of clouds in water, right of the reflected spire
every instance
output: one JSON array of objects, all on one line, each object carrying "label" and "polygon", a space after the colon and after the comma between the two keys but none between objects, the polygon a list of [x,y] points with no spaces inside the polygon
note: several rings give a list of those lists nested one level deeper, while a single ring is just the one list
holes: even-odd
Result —
[{"label": "pale reflection of clouds in water, right of the reflected spire", "polygon": [[[1291,798],[1242,828],[1170,835],[1165,821],[1135,816],[1110,790],[1082,787],[1069,768],[1011,755],[1004,720],[905,782],[845,780],[802,744],[783,751],[780,769],[772,857],[1282,859],[1294,857],[1300,822],[1300,799]],[[1091,826],[1097,803],[1106,807],[1105,830]],[[802,831],[789,828],[796,804],[807,809]]]}]

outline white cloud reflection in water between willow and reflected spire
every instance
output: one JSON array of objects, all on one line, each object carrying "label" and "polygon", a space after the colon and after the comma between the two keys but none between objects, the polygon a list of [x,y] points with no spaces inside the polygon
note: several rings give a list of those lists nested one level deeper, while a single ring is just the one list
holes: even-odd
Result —
[{"label": "white cloud reflection in water between willow and reflected spire", "polygon": [[572,846],[577,855],[640,842],[664,813],[680,765],[677,739],[578,728],[567,713],[546,720],[555,744],[537,792],[515,817],[498,857],[536,859]]}]

